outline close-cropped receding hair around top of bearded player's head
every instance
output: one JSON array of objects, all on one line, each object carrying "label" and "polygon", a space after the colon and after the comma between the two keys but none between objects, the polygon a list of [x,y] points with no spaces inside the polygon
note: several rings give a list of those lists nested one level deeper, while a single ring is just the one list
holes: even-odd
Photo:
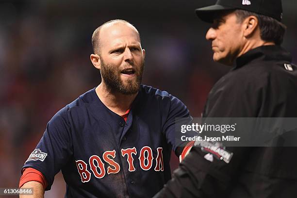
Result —
[{"label": "close-cropped receding hair around top of bearded player's head", "polygon": [[100,38],[99,38],[100,30],[102,29],[102,27],[104,27],[105,25],[110,24],[110,23],[114,23],[114,24],[118,24],[118,23],[130,24],[135,29],[135,31],[138,33],[139,40],[140,40],[140,35],[139,35],[138,30],[131,23],[129,23],[128,21],[122,20],[122,19],[110,20],[110,21],[107,21],[107,22],[103,23],[102,25],[100,25],[94,31],[94,33],[92,35],[92,46],[93,46],[93,52],[95,54],[100,54]]}]

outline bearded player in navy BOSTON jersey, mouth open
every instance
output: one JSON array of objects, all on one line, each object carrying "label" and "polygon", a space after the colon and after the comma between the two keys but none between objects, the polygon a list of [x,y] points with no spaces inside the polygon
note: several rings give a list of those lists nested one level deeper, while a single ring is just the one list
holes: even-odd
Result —
[{"label": "bearded player in navy BOSTON jersey, mouth open", "polygon": [[171,178],[175,118],[186,106],[165,91],[141,84],[145,49],[136,28],[112,20],[92,36],[92,64],[102,82],[49,121],[22,167],[19,186],[43,197],[62,170],[66,197],[152,197]]}]

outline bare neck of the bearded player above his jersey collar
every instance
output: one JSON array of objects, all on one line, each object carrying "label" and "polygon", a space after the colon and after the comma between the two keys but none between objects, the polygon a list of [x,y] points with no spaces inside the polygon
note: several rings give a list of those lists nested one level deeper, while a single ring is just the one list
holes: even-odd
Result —
[{"label": "bare neck of the bearded player above his jersey collar", "polygon": [[102,83],[95,90],[101,102],[117,115],[124,115],[130,109],[133,100],[137,96],[137,93],[125,95],[119,92],[111,92]]}]

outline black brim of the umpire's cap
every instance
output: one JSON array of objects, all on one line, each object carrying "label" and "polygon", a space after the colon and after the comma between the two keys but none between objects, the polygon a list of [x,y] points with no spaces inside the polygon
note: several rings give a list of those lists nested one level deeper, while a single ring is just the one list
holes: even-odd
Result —
[{"label": "black brim of the umpire's cap", "polygon": [[215,4],[203,8],[198,8],[195,10],[195,12],[201,20],[207,23],[213,23],[214,14],[224,10],[234,10],[234,8]]}]

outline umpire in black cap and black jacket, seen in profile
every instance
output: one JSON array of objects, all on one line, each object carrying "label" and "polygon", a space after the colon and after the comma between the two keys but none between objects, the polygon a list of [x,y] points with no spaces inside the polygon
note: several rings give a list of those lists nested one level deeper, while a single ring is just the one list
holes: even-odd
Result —
[{"label": "umpire in black cap and black jacket, seen in profile", "polygon": [[[216,62],[232,66],[203,117],[297,117],[297,66],[281,47],[281,0],[217,0],[196,14]],[[229,147],[229,164],[193,147],[155,197],[296,198],[296,147]],[[209,155],[209,154],[208,154]]]}]

